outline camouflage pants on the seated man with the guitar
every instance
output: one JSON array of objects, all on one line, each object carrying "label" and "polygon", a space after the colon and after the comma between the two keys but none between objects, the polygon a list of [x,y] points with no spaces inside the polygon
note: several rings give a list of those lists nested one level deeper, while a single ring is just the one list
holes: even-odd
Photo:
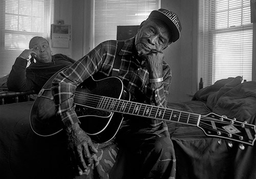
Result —
[{"label": "camouflage pants on the seated man with the guitar", "polygon": [[[126,172],[130,172],[130,177],[125,178],[175,178],[174,146],[165,123],[156,129],[143,128],[137,131],[124,126],[119,130],[116,141],[118,146],[112,142],[95,144],[98,153],[92,155],[93,165],[87,173],[77,176],[76,179],[108,179],[109,172],[116,162],[119,147],[129,151],[129,162],[132,164],[129,165],[132,168],[125,168]],[[123,170],[118,172],[123,172]],[[132,175],[133,173],[135,175]]]}]

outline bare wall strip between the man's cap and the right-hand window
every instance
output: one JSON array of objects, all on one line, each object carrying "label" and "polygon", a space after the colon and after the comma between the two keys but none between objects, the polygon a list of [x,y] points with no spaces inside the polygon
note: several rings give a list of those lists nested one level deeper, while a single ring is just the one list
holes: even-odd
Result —
[{"label": "bare wall strip between the man's cap and the right-hand window", "polygon": [[197,24],[198,1],[161,1],[161,7],[174,11],[181,21],[181,38],[166,49],[165,60],[173,72],[169,101],[191,99],[198,89]]}]

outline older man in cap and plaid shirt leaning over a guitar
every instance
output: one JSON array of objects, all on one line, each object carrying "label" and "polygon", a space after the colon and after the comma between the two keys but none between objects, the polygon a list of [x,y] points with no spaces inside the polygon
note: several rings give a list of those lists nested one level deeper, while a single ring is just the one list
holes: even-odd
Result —
[{"label": "older man in cap and plaid shirt leaning over a guitar", "polygon": [[[74,105],[76,86],[90,76],[110,76],[115,58],[120,56],[118,78],[130,93],[131,101],[166,107],[172,75],[163,50],[179,39],[180,31],[177,14],[165,9],[154,10],[141,23],[136,36],[126,40],[117,54],[118,41],[102,42],[53,80],[56,115],[63,122],[72,161],[80,175],[90,170],[91,154],[97,153],[97,149],[79,125]],[[138,173],[136,178],[175,177],[176,159],[165,122],[132,115],[123,117],[114,140],[131,150],[137,169],[131,172]]]}]

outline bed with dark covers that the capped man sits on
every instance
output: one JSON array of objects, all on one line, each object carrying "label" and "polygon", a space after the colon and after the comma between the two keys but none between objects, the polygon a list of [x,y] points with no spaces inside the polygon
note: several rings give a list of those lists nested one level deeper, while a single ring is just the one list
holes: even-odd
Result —
[{"label": "bed with dark covers that the capped man sits on", "polygon": [[[219,80],[200,89],[191,101],[170,102],[168,107],[203,116],[224,115],[224,121],[236,118],[246,126],[254,125],[256,81],[241,81],[241,77]],[[72,178],[64,134],[36,135],[29,121],[32,105],[33,101],[0,105],[0,178]],[[249,142],[244,138],[246,143],[240,145],[241,142],[226,138],[206,136],[194,125],[168,122],[177,160],[176,178],[256,178],[253,125],[250,126],[251,136],[245,133]],[[118,146],[112,144],[111,147]],[[133,178],[132,162],[129,151],[120,148],[110,178]]]}]

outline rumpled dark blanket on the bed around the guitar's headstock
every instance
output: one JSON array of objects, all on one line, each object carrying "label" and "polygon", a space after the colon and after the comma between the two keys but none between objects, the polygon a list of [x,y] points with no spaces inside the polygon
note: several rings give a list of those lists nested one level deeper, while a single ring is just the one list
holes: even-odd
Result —
[{"label": "rumpled dark blanket on the bed around the guitar's headstock", "polygon": [[[202,115],[213,112],[255,124],[256,81],[223,79],[198,91],[193,101],[170,103],[169,107]],[[232,142],[229,147],[230,141],[208,138],[197,127],[180,124],[169,124],[169,131],[177,156],[177,178],[256,178],[255,146],[241,150]]]}]

